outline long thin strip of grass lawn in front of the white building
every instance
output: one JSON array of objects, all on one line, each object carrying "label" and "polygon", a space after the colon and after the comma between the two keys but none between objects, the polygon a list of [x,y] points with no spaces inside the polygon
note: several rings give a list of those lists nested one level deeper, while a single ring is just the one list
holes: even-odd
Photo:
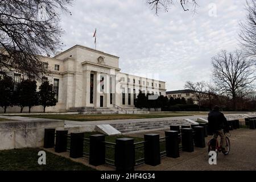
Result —
[{"label": "long thin strip of grass lawn in front of the white building", "polygon": [[188,116],[187,114],[44,114],[44,115],[20,115],[22,117],[61,119],[70,121],[100,121],[111,119],[143,119]]}]

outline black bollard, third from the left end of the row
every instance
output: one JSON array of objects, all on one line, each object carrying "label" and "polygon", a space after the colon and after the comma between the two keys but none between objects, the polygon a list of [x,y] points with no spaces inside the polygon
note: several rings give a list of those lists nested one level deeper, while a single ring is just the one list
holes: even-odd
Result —
[{"label": "black bollard, third from the left end of the row", "polygon": [[71,133],[70,154],[71,158],[81,158],[84,155],[84,133]]}]

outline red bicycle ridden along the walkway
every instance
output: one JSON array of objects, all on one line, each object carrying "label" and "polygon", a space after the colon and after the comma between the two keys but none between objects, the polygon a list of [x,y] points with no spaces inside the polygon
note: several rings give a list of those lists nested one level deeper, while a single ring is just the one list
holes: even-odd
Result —
[{"label": "red bicycle ridden along the walkway", "polygon": [[[217,140],[218,137],[217,137],[216,139],[212,138],[212,139],[209,140],[209,142],[208,142],[208,155],[209,155],[210,151],[215,151],[217,155],[218,155],[218,152],[222,152],[224,155],[228,155],[229,154],[229,151],[230,151],[230,140],[229,140],[229,137],[230,137],[230,135],[228,136],[226,132],[224,132],[224,134],[226,136],[225,137],[225,140],[226,140],[226,146],[225,146],[226,152],[221,150],[221,147],[218,145],[218,140]],[[209,155],[209,158],[210,157],[211,156]]]}]

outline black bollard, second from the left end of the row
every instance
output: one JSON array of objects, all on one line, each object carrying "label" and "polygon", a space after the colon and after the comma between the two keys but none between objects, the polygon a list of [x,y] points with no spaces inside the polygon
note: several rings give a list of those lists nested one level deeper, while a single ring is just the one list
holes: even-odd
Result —
[{"label": "black bollard, second from the left end of the row", "polygon": [[68,130],[56,130],[55,152],[66,152],[68,143]]}]

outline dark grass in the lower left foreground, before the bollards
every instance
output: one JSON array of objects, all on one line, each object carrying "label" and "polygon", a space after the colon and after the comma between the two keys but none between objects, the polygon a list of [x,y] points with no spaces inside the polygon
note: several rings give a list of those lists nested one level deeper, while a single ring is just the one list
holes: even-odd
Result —
[{"label": "dark grass in the lower left foreground, before the bollards", "polygon": [[46,152],[46,165],[38,164],[40,148],[0,151],[0,171],[91,171],[93,168]]}]

